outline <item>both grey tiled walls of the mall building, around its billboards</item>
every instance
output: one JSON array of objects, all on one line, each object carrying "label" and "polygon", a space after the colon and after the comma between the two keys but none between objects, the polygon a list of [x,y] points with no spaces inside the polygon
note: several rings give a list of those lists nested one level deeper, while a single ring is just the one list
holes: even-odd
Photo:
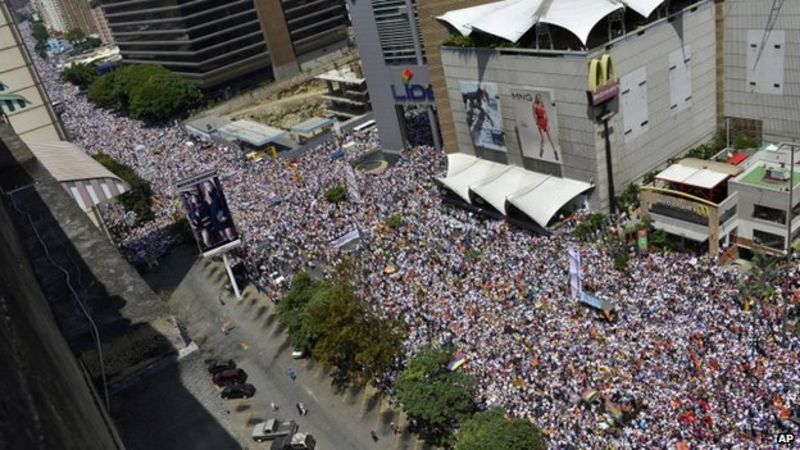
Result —
[{"label": "both grey tiled walls of the mall building, around its billboards", "polygon": [[[600,111],[590,108],[586,97],[589,58],[610,53],[620,77],[641,69],[646,72],[646,130],[635,138],[626,139],[624,116],[630,111],[622,107],[620,100],[614,100],[609,106],[617,112],[611,119],[610,131],[615,188],[619,193],[629,182],[713,135],[716,127],[714,20],[713,3],[706,2],[671,21],[655,22],[588,55],[442,48],[447,103],[452,110],[458,150],[538,172],[594,181],[598,189],[592,195],[591,204],[595,208],[607,207],[603,126],[596,120]],[[670,54],[681,53],[683,48],[690,49],[691,53],[691,99],[685,106],[673,108],[671,91],[685,88],[685,85],[670,84]],[[473,147],[461,101],[460,80],[497,83],[507,153]],[[515,87],[544,88],[554,92],[563,165],[522,156],[514,137],[517,124],[508,94],[508,89]],[[440,117],[443,128],[444,116],[446,114]],[[452,151],[452,148],[447,150]]]}]

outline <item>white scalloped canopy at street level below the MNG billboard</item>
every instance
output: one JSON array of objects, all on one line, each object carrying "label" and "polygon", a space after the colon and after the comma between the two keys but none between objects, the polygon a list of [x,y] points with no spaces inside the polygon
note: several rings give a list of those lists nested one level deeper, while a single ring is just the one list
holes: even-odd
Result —
[{"label": "white scalloped canopy at street level below the MNG billboard", "polygon": [[531,172],[463,153],[447,155],[447,159],[447,176],[437,178],[447,189],[470,204],[470,194],[479,195],[504,215],[508,214],[510,203],[542,227],[547,226],[559,209],[592,189],[592,185],[582,181]]}]

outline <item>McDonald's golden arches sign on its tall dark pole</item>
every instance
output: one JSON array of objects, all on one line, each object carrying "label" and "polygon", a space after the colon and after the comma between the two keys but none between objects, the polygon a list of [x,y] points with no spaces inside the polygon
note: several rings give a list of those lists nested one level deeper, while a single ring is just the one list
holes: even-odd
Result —
[{"label": "McDonald's golden arches sign on its tall dark pole", "polygon": [[586,94],[590,105],[603,107],[602,113],[597,119],[603,122],[603,136],[606,141],[608,207],[613,216],[617,213],[617,200],[614,195],[614,166],[611,159],[611,132],[608,128],[608,121],[614,117],[614,111],[608,109],[608,104],[619,95],[619,81],[611,55],[606,54],[589,62],[589,90]]}]

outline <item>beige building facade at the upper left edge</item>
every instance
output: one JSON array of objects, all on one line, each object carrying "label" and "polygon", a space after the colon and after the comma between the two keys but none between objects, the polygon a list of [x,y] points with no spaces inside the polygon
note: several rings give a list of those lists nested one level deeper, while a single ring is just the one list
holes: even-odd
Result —
[{"label": "beige building facade at the upper left edge", "polygon": [[5,4],[0,2],[0,82],[6,93],[19,94],[31,102],[8,114],[11,126],[26,142],[52,142],[64,138],[39,76],[22,44]]}]

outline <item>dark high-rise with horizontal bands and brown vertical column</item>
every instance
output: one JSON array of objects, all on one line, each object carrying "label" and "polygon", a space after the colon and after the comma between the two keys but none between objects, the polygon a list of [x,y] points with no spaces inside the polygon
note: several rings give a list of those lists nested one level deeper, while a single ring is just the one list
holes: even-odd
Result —
[{"label": "dark high-rise with horizontal bands and brown vertical column", "polygon": [[102,0],[102,7],[125,62],[161,64],[204,88],[259,70],[290,76],[347,45],[344,0]]}]

